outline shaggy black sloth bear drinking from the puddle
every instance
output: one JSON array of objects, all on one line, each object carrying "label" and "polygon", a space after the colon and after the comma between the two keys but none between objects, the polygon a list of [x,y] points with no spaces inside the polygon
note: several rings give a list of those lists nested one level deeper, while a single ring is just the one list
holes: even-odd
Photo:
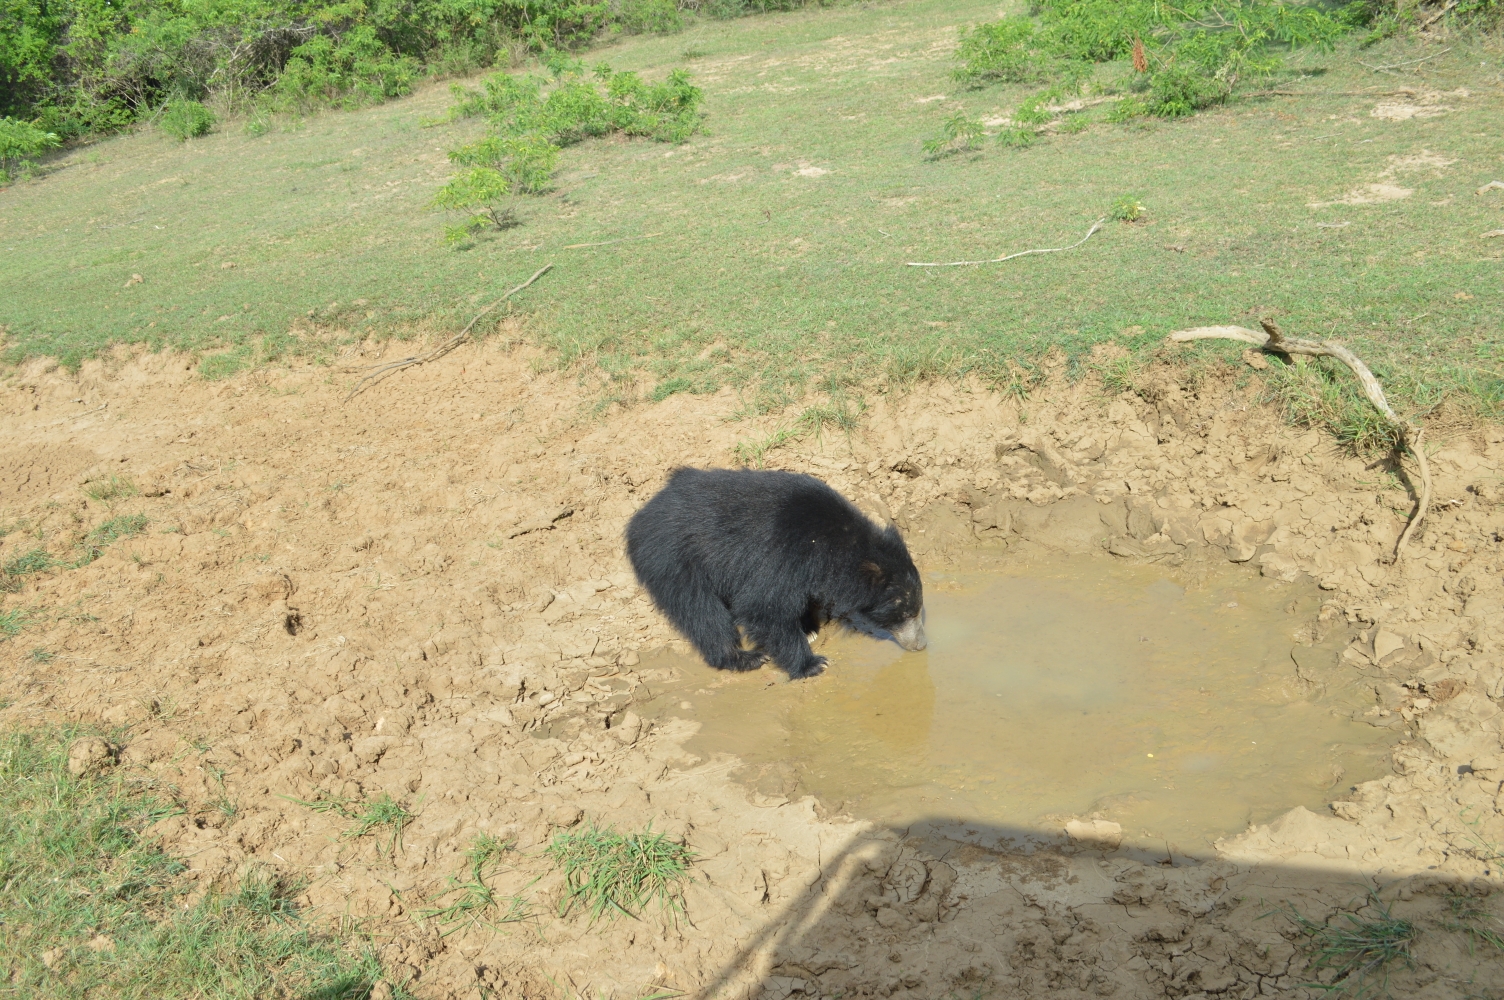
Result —
[{"label": "shaggy black sloth bear drinking from the puddle", "polygon": [[[898,529],[874,525],[817,478],[675,469],[627,523],[627,558],[705,662],[790,678],[824,669],[806,635],[842,621],[925,648],[923,589]],[[741,648],[737,626],[757,645]]]}]

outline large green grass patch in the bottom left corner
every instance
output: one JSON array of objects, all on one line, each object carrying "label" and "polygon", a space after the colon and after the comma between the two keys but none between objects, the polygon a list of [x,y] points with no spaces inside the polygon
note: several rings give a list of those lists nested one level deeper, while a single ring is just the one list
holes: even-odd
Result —
[{"label": "large green grass patch in the bottom left corner", "polygon": [[183,865],[147,827],[161,789],[105,768],[69,773],[83,729],[0,732],[0,965],[18,995],[368,995],[368,949],[319,934],[271,872],[191,901]]}]

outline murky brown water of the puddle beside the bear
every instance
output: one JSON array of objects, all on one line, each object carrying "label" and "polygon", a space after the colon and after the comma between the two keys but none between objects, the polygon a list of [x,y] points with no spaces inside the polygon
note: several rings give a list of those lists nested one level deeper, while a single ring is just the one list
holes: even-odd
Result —
[{"label": "murky brown water of the puddle beside the bear", "polygon": [[1296,672],[1348,677],[1314,586],[1050,556],[929,574],[925,597],[922,653],[830,630],[826,674],[793,684],[674,657],[653,711],[698,720],[689,749],[734,753],[761,791],[997,841],[1099,815],[1130,844],[1203,854],[1388,770],[1396,734],[1352,720],[1372,690]]}]

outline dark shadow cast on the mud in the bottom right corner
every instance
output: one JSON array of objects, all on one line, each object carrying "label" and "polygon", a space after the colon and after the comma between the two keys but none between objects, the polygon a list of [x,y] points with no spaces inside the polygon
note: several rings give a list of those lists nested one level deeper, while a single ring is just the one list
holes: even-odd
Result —
[{"label": "dark shadow cast on the mud in the bottom right corner", "polygon": [[[1296,809],[1265,830],[1298,842],[1327,823]],[[1196,862],[923,820],[859,838],[781,910],[766,902],[699,995],[1504,995],[1495,880],[1324,857],[1340,847]]]}]

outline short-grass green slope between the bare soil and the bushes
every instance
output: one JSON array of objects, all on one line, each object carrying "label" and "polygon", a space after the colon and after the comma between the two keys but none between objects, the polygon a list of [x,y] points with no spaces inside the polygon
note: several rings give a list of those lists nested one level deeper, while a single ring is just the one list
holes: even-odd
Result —
[{"label": "short-grass green slope between the bare soil and the bushes", "polygon": [[[917,0],[711,23],[594,53],[650,77],[704,53],[689,66],[708,134],[681,147],[573,147],[555,192],[525,203],[526,226],[468,250],[445,248],[427,209],[448,174],[444,150],[477,129],[421,128],[448,104],[439,87],[260,138],[101,143],[0,192],[0,322],[12,356],[65,358],[143,338],[236,343],[310,313],[358,331],[453,328],[552,260],[520,296],[535,335],[597,371],[645,370],[639,388],[660,392],[999,373],[1056,343],[1148,344],[1272,314],[1290,332],[1357,344],[1402,402],[1456,385],[1504,397],[1504,241],[1478,238],[1504,224],[1504,192],[1474,195],[1504,174],[1496,44],[1456,42],[1421,80],[1373,74],[1351,53],[1308,56],[1331,72],[1295,86],[1328,96],[926,162],[919,143],[951,108],[985,116],[1021,95],[949,80],[955,27],[996,12]],[[1361,57],[1412,56],[1394,44]],[[1471,96],[1390,122],[1370,116],[1378,96],[1340,93],[1414,83]],[[1391,158],[1423,150],[1456,162],[1385,176]],[[1379,180],[1414,194],[1310,208]],[[1074,242],[1123,194],[1143,200],[1148,224],[1113,224],[1071,254],[902,266]],[[662,235],[566,248],[647,233]],[[123,287],[132,274],[143,281]]]}]

